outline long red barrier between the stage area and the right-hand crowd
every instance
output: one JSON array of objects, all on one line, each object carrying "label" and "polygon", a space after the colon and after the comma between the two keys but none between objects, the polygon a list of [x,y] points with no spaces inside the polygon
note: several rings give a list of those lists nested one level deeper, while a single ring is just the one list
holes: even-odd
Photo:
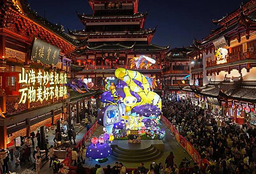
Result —
[{"label": "long red barrier between the stage area and the right-hand crowd", "polygon": [[167,126],[167,128],[171,130],[178,143],[180,143],[180,145],[188,152],[188,154],[194,159],[194,161],[198,163],[199,166],[201,166],[201,157],[196,149],[194,149],[193,146],[178,133],[173,124],[171,124],[171,122],[167,118],[161,116],[161,120]]}]

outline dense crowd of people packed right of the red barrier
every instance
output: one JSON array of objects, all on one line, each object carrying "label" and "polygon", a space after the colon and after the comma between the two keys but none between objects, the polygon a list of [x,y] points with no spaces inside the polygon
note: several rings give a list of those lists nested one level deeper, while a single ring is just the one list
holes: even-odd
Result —
[{"label": "dense crowd of people packed right of the red barrier", "polygon": [[[256,174],[252,158],[256,129],[239,126],[186,100],[165,100],[163,115],[206,159],[198,173]],[[182,162],[183,163],[183,162]]]}]

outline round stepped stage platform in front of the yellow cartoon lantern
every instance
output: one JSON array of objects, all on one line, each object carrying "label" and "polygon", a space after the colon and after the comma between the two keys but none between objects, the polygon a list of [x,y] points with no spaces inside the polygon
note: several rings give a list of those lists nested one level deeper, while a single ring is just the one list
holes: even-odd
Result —
[{"label": "round stepped stage platform in front of the yellow cartoon lantern", "polygon": [[128,143],[128,140],[114,140],[112,157],[118,161],[141,163],[157,159],[164,149],[162,140],[142,140],[141,143]]}]

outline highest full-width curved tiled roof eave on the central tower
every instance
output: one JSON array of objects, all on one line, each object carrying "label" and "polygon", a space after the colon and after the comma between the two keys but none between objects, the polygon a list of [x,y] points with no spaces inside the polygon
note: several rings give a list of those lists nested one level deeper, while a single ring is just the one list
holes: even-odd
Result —
[{"label": "highest full-width curved tiled roof eave on the central tower", "polygon": [[146,13],[136,13],[134,15],[120,15],[120,16],[94,16],[91,15],[83,15],[78,13],[78,17],[80,19],[134,19],[134,18],[141,18],[147,15]]}]

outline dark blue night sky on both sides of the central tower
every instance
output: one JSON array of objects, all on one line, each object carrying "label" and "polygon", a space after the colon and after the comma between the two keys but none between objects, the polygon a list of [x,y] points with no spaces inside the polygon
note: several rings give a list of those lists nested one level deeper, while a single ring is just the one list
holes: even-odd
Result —
[{"label": "dark blue night sky on both sides of the central tower", "polygon": [[[91,14],[92,10],[87,0],[27,0],[31,8],[52,23],[60,23],[74,30],[84,29],[76,15]],[[139,12],[149,14],[145,28],[157,31],[151,43],[171,48],[188,46],[194,38],[202,39],[218,26],[211,19],[220,19],[226,13],[237,9],[244,0],[140,0]]]}]

